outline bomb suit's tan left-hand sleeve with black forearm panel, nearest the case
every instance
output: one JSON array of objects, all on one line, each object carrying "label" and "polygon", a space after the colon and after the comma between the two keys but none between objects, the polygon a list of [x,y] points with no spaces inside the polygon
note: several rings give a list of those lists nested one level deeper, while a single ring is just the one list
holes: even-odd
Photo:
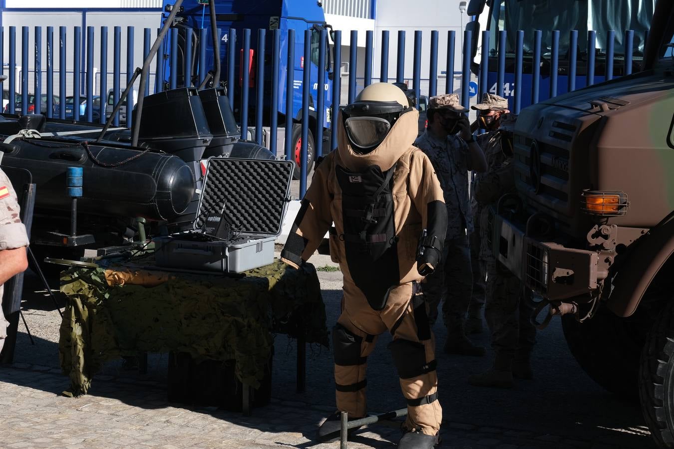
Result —
[{"label": "bomb suit's tan left-hand sleeve with black forearm panel, nearest the case", "polygon": [[311,257],[332,225],[330,213],[332,194],[328,178],[333,166],[334,153],[326,156],[316,168],[311,186],[307,189],[293,222],[293,228],[290,229],[290,235],[281,251],[281,260],[292,267],[299,268]]}]

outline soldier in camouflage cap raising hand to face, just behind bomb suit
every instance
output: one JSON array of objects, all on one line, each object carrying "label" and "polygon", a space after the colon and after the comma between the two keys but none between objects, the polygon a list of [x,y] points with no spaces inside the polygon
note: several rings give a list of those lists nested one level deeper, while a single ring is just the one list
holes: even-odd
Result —
[{"label": "soldier in camouflage cap raising hand to face, just behind bomb suit", "polygon": [[485,348],[473,345],[466,337],[464,324],[470,291],[472,269],[468,233],[473,230],[468,201],[468,171],[484,172],[487,162],[475,141],[470,123],[458,95],[431,97],[427,112],[428,127],[415,141],[431,160],[440,180],[448,209],[448,227],[441,266],[427,277],[424,295],[430,306],[431,324],[437,319],[437,306],[443,302],[442,315],[448,327],[444,351],[450,354],[485,355]]}]

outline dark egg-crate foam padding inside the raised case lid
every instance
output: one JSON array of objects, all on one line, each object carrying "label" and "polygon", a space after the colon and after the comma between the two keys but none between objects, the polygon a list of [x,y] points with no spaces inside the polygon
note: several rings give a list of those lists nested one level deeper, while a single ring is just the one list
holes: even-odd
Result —
[{"label": "dark egg-crate foam padding inside the raised case lid", "polygon": [[246,234],[276,236],[290,198],[295,163],[259,159],[211,158],[199,203],[195,229],[209,211],[219,211]]}]

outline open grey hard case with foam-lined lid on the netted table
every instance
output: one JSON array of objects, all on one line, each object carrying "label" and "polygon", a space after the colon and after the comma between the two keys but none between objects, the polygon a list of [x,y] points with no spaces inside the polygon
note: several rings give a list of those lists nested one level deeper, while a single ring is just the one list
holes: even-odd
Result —
[{"label": "open grey hard case with foam-lined lid on the netted table", "polygon": [[293,168],[290,161],[210,158],[193,230],[155,238],[156,265],[241,273],[272,263]]}]

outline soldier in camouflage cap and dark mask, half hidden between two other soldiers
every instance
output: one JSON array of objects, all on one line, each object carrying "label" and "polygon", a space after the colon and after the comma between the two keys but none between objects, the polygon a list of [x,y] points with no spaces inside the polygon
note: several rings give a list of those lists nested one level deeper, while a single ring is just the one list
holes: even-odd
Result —
[{"label": "soldier in camouflage cap and dark mask, half hidden between two other soldiers", "polygon": [[[508,100],[505,98],[485,92],[482,96],[482,102],[471,106],[471,109],[478,111],[477,120],[474,127],[485,129],[486,132],[477,136],[477,144],[485,151],[485,157],[492,153],[492,146],[501,145],[499,132],[501,116],[509,112]],[[472,127],[471,127],[472,129]],[[487,160],[489,165],[489,160]],[[468,234],[470,242],[470,264],[472,268],[472,296],[468,305],[468,320],[466,320],[466,333],[482,333],[482,309],[485,306],[485,277],[487,276],[486,262],[480,256],[480,214],[482,206],[475,199],[474,179],[470,184],[470,209],[473,216],[473,232]]]}]

